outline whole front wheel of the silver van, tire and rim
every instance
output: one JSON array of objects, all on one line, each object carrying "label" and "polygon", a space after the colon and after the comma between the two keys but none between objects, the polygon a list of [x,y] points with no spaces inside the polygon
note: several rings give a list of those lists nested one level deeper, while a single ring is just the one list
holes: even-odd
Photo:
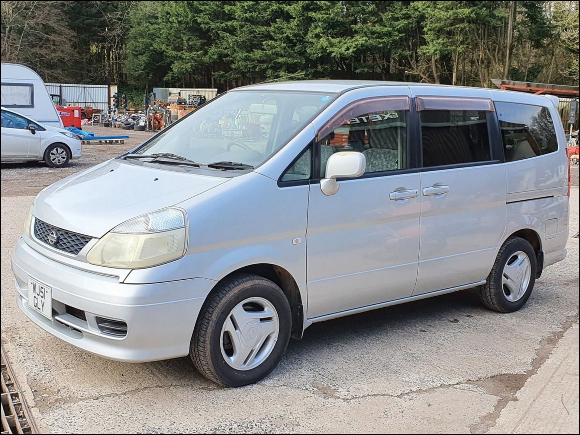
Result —
[{"label": "whole front wheel of the silver van, tire and rim", "polygon": [[227,386],[258,382],[280,362],[290,339],[288,299],[257,275],[237,275],[208,297],[191,338],[195,368]]}]

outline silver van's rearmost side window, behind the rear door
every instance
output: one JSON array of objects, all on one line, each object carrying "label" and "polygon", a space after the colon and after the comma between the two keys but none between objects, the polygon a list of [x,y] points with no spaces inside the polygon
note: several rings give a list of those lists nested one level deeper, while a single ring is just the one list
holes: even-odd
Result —
[{"label": "silver van's rearmost side window, behind the rear door", "polygon": [[558,140],[550,111],[519,103],[495,103],[506,162],[557,151]]}]

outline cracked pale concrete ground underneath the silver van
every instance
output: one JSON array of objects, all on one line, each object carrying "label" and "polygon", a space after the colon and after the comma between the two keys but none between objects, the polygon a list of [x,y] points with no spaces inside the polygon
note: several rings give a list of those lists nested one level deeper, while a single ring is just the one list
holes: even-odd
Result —
[{"label": "cracked pale concrete ground underneath the silver van", "polygon": [[[571,235],[578,188],[572,192]],[[32,412],[53,433],[556,430],[530,397],[563,410],[542,402],[548,387],[532,383],[550,378],[543,369],[569,348],[564,340],[578,319],[578,239],[570,238],[568,257],[545,270],[517,313],[490,312],[467,290],[314,324],[291,341],[273,374],[226,389],[186,358],[108,361],[28,321],[16,307],[10,255],[31,199],[2,198],[2,343]],[[568,371],[550,370],[547,385],[565,376],[570,383]],[[531,411],[521,408],[528,401]],[[566,396],[564,404],[568,411],[574,405]],[[573,415],[559,418],[574,425]]]}]

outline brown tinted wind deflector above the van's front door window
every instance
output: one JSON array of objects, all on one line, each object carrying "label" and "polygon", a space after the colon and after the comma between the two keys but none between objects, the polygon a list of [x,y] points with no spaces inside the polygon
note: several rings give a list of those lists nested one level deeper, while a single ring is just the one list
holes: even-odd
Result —
[{"label": "brown tinted wind deflector above the van's front door window", "polygon": [[334,115],[325,123],[316,134],[316,141],[328,136],[337,127],[343,125],[348,120],[356,118],[362,113],[370,114],[375,112],[389,112],[396,110],[411,110],[411,99],[405,95],[362,98],[353,101]]}]

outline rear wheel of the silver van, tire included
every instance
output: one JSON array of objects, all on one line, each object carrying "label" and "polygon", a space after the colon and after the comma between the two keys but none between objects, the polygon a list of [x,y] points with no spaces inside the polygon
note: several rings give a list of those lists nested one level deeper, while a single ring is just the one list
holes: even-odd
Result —
[{"label": "rear wheel of the silver van, tire included", "polygon": [[500,313],[524,306],[536,280],[534,248],[521,237],[510,237],[499,249],[487,283],[481,287],[481,302]]}]

